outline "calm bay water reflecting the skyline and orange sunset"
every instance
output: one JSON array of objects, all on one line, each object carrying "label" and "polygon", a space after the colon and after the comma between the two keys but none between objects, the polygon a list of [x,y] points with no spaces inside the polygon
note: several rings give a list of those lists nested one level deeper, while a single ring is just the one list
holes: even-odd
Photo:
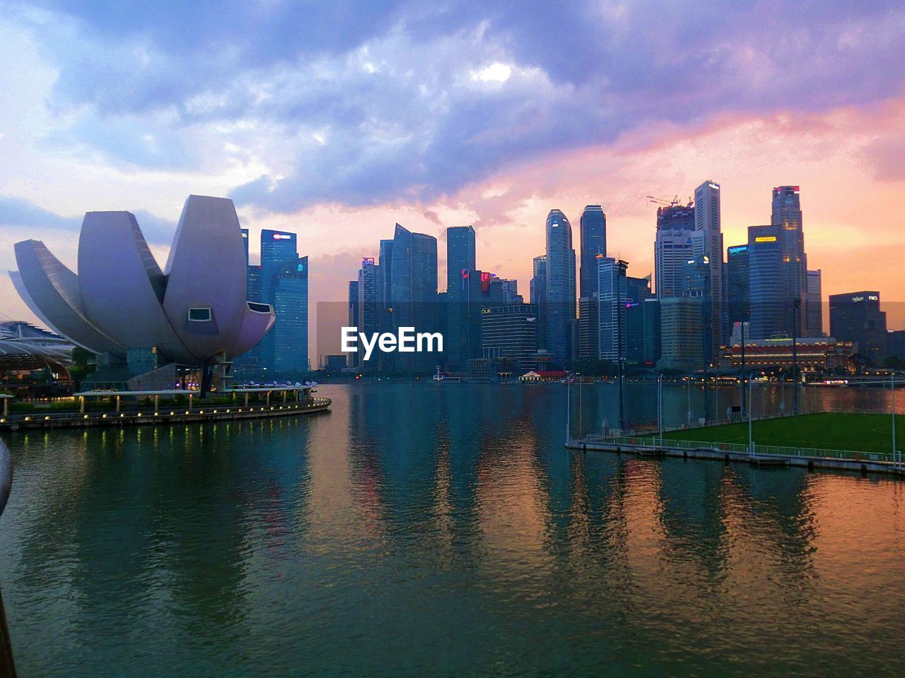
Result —
[{"label": "calm bay water reflecting the skyline and orange sunset", "polygon": [[561,385],[321,392],[7,438],[21,676],[905,674],[899,483],[581,457]]}]

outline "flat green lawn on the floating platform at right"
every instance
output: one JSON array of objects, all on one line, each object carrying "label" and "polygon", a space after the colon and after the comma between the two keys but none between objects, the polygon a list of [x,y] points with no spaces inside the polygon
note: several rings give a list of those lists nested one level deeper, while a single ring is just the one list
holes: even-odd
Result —
[{"label": "flat green lawn on the floating platform at right", "polygon": [[[754,442],[782,447],[889,452],[890,419],[888,414],[825,412],[755,421]],[[672,431],[664,433],[663,438],[744,445],[748,443],[748,423]],[[896,447],[905,447],[905,416],[902,415],[896,416]]]}]

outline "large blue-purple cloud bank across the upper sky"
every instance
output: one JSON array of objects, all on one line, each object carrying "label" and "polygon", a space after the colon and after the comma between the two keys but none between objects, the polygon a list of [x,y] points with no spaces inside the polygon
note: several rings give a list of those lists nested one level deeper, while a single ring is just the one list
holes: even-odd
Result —
[{"label": "large blue-purple cloud bank across the upper sky", "polygon": [[[429,200],[659,123],[905,93],[900,0],[43,6],[52,106],[91,111],[72,143],[201,169],[228,144],[272,167],[233,198],[285,212]],[[472,80],[493,63],[510,78]]]}]

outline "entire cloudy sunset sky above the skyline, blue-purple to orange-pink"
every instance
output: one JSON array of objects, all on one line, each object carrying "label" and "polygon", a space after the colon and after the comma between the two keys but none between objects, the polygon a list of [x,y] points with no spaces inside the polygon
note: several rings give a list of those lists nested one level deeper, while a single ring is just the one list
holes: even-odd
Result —
[{"label": "entire cloudy sunset sky above the skyline, blue-purple to orange-pink", "polygon": [[[3,269],[24,238],[74,268],[88,210],[135,212],[164,260],[202,193],[297,231],[312,301],[395,221],[441,252],[473,223],[527,292],[550,208],[602,203],[644,275],[645,196],[712,179],[727,245],[799,184],[824,295],[905,301],[901,0],[0,0],[0,86]],[[30,317],[5,277],[0,313]]]}]

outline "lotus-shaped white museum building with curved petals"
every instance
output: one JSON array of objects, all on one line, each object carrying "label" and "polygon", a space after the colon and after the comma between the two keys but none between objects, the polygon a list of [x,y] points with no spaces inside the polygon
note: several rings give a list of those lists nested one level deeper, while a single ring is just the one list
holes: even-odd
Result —
[{"label": "lotus-shaped white museum building with curved petals", "polygon": [[78,275],[43,242],[23,240],[10,277],[46,325],[105,363],[152,354],[157,364],[202,367],[206,377],[275,320],[270,305],[248,301],[244,248],[233,201],[190,195],[164,270],[131,212],[87,212]]}]

